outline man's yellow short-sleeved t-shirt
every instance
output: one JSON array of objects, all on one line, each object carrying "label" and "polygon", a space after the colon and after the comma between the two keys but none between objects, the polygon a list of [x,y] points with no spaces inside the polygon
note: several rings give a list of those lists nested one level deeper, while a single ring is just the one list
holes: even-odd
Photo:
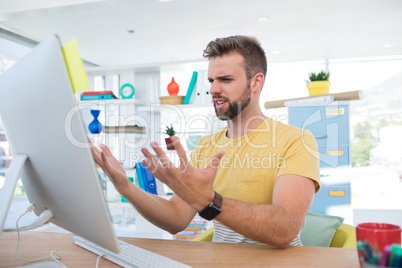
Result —
[{"label": "man's yellow short-sleeved t-shirt", "polygon": [[224,197],[245,203],[272,204],[275,180],[296,174],[315,181],[320,189],[317,143],[308,130],[266,118],[248,134],[229,139],[227,128],[203,137],[191,153],[193,167],[204,168],[225,151],[213,188]]}]

